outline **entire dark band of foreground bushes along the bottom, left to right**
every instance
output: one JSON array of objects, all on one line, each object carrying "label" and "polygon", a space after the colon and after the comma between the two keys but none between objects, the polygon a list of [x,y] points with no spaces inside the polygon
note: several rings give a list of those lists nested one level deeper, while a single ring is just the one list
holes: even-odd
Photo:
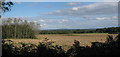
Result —
[{"label": "entire dark band of foreground bushes along the bottom, left to right", "polygon": [[[92,42],[92,46],[80,46],[75,40],[73,46],[65,52],[62,46],[53,46],[53,41],[45,38],[39,45],[20,43],[20,47],[14,46],[11,40],[2,40],[3,56],[32,56],[32,57],[90,57],[90,56],[119,56],[120,34],[113,38],[108,36],[105,43]],[[6,55],[7,54],[7,55]]]}]

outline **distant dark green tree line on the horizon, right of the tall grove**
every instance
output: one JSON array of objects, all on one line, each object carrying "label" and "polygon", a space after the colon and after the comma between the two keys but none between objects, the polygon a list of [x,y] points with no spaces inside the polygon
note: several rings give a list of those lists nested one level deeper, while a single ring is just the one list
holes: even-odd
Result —
[{"label": "distant dark green tree line on the horizon, right of the tall grove", "polygon": [[42,30],[39,34],[71,34],[71,33],[109,33],[118,34],[120,33],[120,27],[109,27],[101,29],[68,29],[68,30]]}]

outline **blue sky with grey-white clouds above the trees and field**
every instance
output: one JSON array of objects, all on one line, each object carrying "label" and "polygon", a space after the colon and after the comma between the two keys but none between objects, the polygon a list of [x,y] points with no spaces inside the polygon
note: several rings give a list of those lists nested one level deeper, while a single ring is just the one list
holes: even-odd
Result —
[{"label": "blue sky with grey-white clouds above the trees and field", "polygon": [[14,2],[3,18],[40,23],[40,29],[92,29],[118,26],[117,2]]}]

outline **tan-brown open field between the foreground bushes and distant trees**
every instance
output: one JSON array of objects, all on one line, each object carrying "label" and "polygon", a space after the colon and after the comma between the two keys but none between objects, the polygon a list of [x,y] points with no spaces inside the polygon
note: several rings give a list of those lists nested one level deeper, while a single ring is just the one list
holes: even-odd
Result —
[{"label": "tan-brown open field between the foreground bushes and distant trees", "polygon": [[54,41],[55,44],[61,45],[64,49],[70,48],[74,44],[74,40],[80,41],[81,46],[90,46],[91,42],[105,42],[108,35],[116,37],[117,34],[107,33],[89,33],[89,34],[42,34],[36,35],[38,39],[11,39],[14,42],[25,42],[38,44],[43,41],[44,38]]}]

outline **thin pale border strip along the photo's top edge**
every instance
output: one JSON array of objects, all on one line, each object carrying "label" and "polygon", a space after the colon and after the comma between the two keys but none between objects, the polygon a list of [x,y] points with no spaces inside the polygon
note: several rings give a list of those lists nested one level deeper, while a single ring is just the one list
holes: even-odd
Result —
[{"label": "thin pale border strip along the photo's top edge", "polygon": [[118,2],[120,0],[11,0],[11,1],[13,2]]}]

